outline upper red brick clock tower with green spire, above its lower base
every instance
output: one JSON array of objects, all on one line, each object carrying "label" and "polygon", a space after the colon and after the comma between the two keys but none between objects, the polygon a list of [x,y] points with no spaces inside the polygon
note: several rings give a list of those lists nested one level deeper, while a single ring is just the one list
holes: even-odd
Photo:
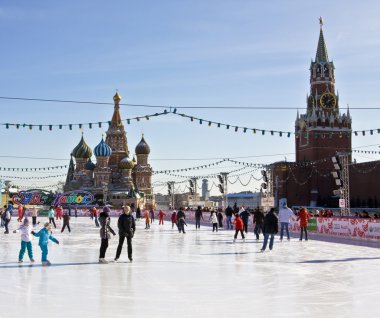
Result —
[{"label": "upper red brick clock tower with green spire, above its lower base", "polygon": [[[320,33],[315,61],[310,65],[310,95],[306,114],[295,122],[296,162],[318,161],[337,151],[351,152],[351,117],[341,114],[335,92],[335,67],[329,61],[320,18]],[[350,156],[351,161],[351,156]]]}]

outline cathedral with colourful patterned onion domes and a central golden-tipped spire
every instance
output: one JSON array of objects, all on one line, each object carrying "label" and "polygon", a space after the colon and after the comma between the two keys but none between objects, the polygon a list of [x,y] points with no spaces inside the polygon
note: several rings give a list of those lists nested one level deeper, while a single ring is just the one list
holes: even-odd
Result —
[{"label": "cathedral with colourful patterned onion domes and a central golden-tipped spire", "polygon": [[[148,163],[150,147],[143,135],[135,148],[136,157],[130,157],[118,92],[113,100],[114,112],[106,139],[102,137],[92,151],[82,135],[71,152],[64,190],[88,191],[98,200],[115,207],[132,203],[141,207],[153,206],[152,168]],[[96,163],[91,160],[93,154]]]}]

